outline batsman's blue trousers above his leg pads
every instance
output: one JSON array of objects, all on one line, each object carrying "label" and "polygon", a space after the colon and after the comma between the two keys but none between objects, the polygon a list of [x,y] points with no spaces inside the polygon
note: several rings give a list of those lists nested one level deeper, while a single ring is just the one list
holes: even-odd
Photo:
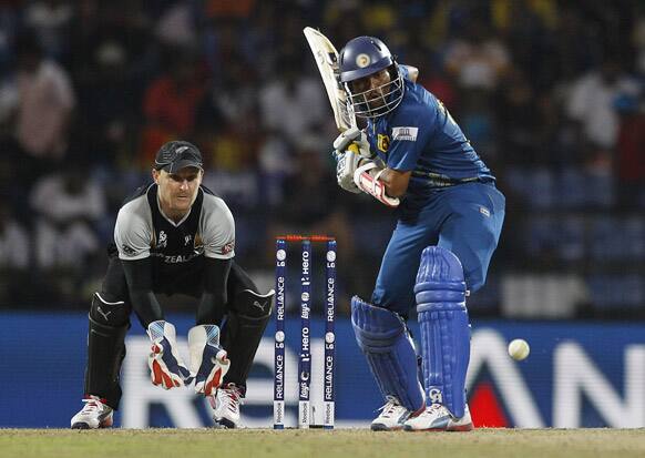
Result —
[{"label": "batsman's blue trousers above his leg pads", "polygon": [[433,192],[426,205],[400,216],[381,263],[372,304],[407,317],[414,307],[421,252],[450,250],[463,265],[468,289],[485,282],[504,221],[504,195],[492,183],[465,183]]}]

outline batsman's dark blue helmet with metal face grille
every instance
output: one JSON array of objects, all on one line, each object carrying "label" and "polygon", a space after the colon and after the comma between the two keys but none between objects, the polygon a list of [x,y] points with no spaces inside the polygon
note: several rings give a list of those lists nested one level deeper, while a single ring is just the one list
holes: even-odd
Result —
[{"label": "batsman's dark blue helmet with metal face grille", "polygon": [[[403,77],[388,47],[375,37],[350,40],[338,55],[340,82],[359,118],[376,118],[396,109],[403,99]],[[390,81],[378,88],[355,92],[352,82],[389,69]]]}]

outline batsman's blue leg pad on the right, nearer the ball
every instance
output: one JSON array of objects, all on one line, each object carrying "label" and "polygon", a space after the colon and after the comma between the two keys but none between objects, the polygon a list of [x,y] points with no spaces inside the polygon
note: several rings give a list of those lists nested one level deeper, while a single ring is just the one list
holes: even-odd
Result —
[{"label": "batsman's blue leg pad on the right, nearer the ball", "polygon": [[459,258],[439,246],[423,250],[414,294],[428,401],[442,404],[452,415],[462,417],[470,327],[463,267]]}]

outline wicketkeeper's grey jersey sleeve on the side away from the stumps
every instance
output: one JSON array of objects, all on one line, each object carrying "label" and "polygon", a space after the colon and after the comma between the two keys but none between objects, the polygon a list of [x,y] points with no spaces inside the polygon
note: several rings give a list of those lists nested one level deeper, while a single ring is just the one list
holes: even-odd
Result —
[{"label": "wicketkeeper's grey jersey sleeve on the side away from the stumps", "polygon": [[119,211],[114,226],[114,243],[119,258],[136,261],[150,257],[152,223],[147,202],[137,199]]}]

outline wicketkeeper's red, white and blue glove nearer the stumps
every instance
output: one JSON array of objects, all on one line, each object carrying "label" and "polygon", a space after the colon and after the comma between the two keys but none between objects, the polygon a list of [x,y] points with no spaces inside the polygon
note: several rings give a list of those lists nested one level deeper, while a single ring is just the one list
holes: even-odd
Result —
[{"label": "wicketkeeper's red, white and blue glove nearer the stumps", "polygon": [[195,393],[214,395],[231,367],[226,350],[219,346],[219,327],[199,325],[191,328],[188,348]]}]

